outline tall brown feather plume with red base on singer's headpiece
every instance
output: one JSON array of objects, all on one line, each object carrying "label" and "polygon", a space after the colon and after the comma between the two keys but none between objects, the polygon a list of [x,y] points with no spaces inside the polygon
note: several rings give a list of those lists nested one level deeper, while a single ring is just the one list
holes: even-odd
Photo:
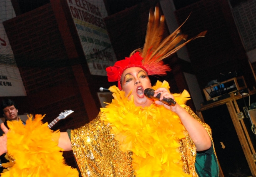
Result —
[{"label": "tall brown feather plume with red base on singer's headpiece", "polygon": [[[164,75],[170,68],[168,65],[163,65],[161,60],[177,52],[191,40],[204,37],[207,32],[203,31],[196,37],[187,40],[188,35],[182,34],[180,30],[181,26],[186,22],[185,20],[181,26],[163,40],[164,20],[164,16],[160,15],[159,7],[156,7],[154,12],[152,9],[150,10],[145,44],[141,50],[143,66],[150,71],[148,75]],[[186,42],[180,44],[183,40]]]}]

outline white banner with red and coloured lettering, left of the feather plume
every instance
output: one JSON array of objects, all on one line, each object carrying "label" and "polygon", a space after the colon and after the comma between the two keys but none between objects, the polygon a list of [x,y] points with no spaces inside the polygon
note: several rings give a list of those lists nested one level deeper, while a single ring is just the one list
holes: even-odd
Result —
[{"label": "white banner with red and coloured lettering, left of the feather plume", "polygon": [[92,75],[106,76],[105,68],[116,62],[103,21],[103,0],[67,0]]}]

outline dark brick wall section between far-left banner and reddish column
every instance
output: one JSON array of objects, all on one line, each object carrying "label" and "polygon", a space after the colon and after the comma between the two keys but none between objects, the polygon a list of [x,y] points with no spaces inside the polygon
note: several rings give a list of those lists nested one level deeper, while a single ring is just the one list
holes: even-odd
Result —
[{"label": "dark brick wall section between far-left banner and reddish column", "polygon": [[76,121],[56,125],[63,131],[88,122],[80,108],[75,62],[68,58],[51,4],[7,20],[4,26],[32,105],[26,112],[47,114],[43,121],[51,122],[64,110],[79,110],[73,113]]}]

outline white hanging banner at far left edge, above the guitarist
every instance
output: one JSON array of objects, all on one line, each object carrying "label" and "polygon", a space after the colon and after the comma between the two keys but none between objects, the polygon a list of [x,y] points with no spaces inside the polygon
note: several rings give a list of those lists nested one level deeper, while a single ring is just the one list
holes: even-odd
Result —
[{"label": "white hanging banner at far left edge, above the guitarist", "polygon": [[27,95],[3,26],[15,16],[11,0],[0,0],[0,97]]}]

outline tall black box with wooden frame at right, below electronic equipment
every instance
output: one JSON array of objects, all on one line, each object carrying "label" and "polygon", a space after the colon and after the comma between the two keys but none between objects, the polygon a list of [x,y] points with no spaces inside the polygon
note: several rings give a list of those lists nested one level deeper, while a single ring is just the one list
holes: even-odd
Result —
[{"label": "tall black box with wooden frame at right, below electronic equipment", "polygon": [[[251,95],[256,101],[256,95]],[[221,167],[220,177],[256,176],[256,137],[243,107],[249,97],[238,95],[203,107],[198,116],[212,129],[213,143]]]}]

